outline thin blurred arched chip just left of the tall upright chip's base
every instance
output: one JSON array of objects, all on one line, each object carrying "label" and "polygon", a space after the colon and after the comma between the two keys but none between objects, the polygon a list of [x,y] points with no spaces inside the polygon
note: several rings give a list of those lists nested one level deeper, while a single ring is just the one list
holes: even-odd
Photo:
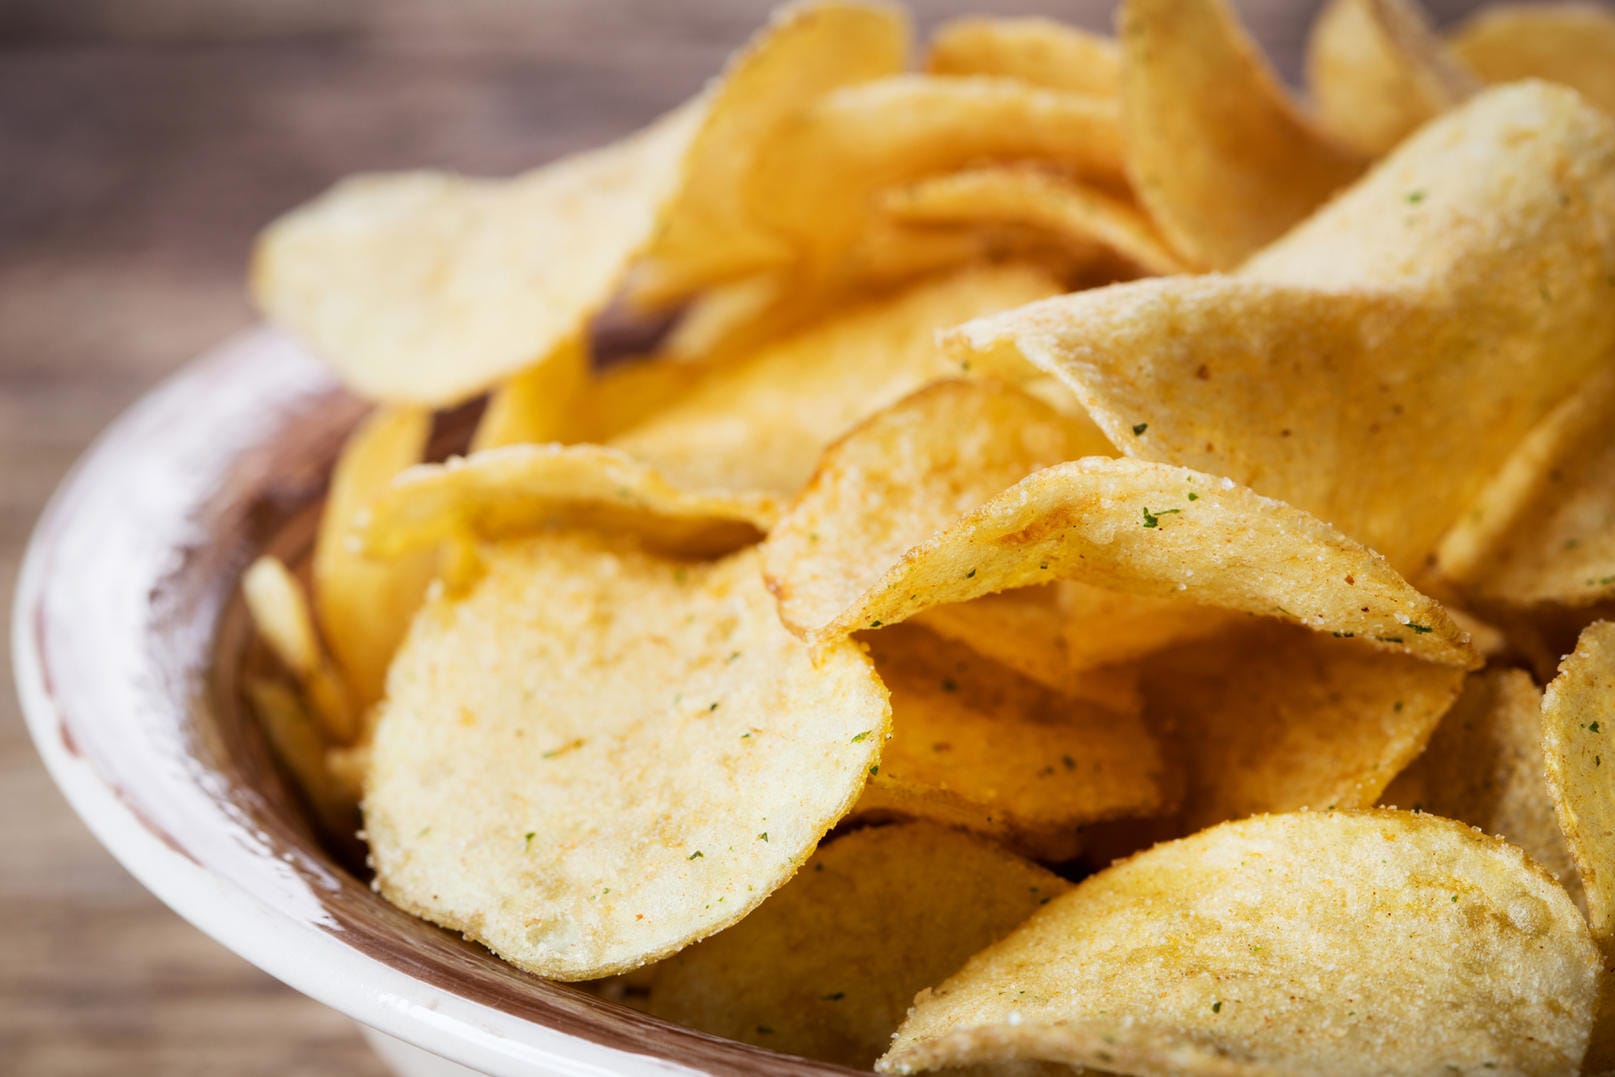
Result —
[{"label": "thin blurred arched chip just left of the tall upright chip's base", "polygon": [[1035,168],[972,168],[888,191],[880,207],[900,221],[1017,226],[1048,233],[1079,260],[1114,260],[1129,276],[1187,268],[1127,202]]}]

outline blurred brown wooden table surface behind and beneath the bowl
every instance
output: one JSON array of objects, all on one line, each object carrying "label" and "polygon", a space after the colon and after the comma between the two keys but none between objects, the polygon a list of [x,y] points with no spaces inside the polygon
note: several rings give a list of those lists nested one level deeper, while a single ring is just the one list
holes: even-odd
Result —
[{"label": "blurred brown wooden table surface behind and beneath the bowl", "polygon": [[[963,10],[1103,26],[1110,3],[917,6],[927,26]],[[1240,6],[1294,74],[1313,5]],[[497,174],[625,132],[693,92],[766,10],[0,0],[0,589],[95,431],[252,321],[239,279],[265,220],[354,170]],[[5,677],[0,1071],[381,1074],[344,1017],[203,938],[95,844]]]}]

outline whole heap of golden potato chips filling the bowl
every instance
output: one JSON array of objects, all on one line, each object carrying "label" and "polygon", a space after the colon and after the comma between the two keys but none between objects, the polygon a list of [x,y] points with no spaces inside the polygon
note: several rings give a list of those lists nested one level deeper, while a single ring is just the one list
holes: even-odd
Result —
[{"label": "whole heap of golden potato chips filling the bowl", "polygon": [[252,702],[389,901],[738,1040],[1615,1069],[1615,16],[1118,26],[796,3],[276,221],[376,410]]}]

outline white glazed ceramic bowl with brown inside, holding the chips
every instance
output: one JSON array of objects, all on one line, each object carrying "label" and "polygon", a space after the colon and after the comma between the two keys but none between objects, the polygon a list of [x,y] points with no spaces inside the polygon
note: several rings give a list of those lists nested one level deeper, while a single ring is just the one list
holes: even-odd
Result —
[{"label": "white glazed ceramic bowl with brown inside, holding the chips", "polygon": [[357,400],[255,329],[86,452],[34,531],[13,639],[29,731],[95,836],[405,1074],[837,1074],[528,977],[392,909],[312,836],[239,702],[241,570],[307,546]]}]

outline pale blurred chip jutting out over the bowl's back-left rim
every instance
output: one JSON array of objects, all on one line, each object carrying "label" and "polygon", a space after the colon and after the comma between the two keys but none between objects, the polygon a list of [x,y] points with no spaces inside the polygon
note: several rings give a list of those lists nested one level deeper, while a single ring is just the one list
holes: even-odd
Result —
[{"label": "pale blurred chip jutting out over the bowl's back-left rim", "polygon": [[640,134],[509,181],[344,179],[260,237],[252,292],[357,392],[449,405],[606,307],[678,191],[698,98]]}]

